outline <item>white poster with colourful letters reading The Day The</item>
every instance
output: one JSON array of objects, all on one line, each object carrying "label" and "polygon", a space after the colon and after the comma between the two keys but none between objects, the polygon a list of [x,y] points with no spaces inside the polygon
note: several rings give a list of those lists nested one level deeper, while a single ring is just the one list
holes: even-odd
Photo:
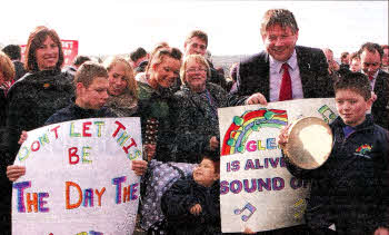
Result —
[{"label": "white poster with colourful letters reading The Day The", "polygon": [[142,159],[139,118],[91,118],[28,133],[14,165],[12,234],[132,234]]}]

